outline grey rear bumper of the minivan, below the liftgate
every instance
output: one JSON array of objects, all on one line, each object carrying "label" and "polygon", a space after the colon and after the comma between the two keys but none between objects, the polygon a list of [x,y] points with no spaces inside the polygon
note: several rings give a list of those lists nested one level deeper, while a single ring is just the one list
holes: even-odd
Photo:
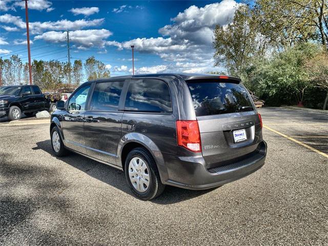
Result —
[{"label": "grey rear bumper of the minivan, below the liftgate", "polygon": [[218,168],[207,169],[202,156],[177,157],[176,161],[172,161],[172,158],[171,161],[166,161],[169,179],[164,183],[190,190],[222,186],[260,169],[264,165],[266,155],[267,144],[262,141],[252,155]]}]

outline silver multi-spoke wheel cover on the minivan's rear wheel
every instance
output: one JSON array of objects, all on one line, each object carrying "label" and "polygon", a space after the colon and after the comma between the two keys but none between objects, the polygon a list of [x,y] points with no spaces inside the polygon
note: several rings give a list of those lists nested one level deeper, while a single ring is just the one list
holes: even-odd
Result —
[{"label": "silver multi-spoke wheel cover on the minivan's rear wheel", "polygon": [[134,189],[141,193],[146,192],[150,183],[146,161],[140,157],[133,157],[129,163],[129,178]]}]

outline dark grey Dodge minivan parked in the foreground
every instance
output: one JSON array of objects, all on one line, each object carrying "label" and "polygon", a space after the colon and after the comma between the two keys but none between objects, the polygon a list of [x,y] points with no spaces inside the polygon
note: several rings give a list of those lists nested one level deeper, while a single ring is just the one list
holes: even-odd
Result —
[{"label": "dark grey Dodge minivan parked in the foreground", "polygon": [[208,189],[264,165],[262,121],[240,79],[153,74],[89,81],[51,115],[51,144],[124,170],[133,193]]}]

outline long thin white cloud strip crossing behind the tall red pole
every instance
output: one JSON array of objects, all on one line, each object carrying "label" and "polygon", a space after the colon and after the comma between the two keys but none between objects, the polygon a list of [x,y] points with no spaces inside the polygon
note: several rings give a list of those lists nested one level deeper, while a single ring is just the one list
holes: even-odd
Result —
[{"label": "long thin white cloud strip crossing behind the tall red pole", "polygon": [[[104,18],[93,20],[77,19],[74,21],[61,19],[56,22],[30,22],[29,27],[31,34],[38,34],[45,30],[78,30],[86,27],[99,26],[103,24],[104,20]],[[13,16],[11,14],[0,15],[0,22],[6,24],[12,23],[20,29],[26,28],[26,24],[21,17]]]}]

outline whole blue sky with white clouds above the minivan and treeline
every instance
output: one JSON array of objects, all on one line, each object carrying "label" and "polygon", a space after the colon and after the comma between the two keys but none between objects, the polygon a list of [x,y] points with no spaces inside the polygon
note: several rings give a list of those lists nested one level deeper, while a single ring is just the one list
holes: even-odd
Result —
[{"label": "whole blue sky with white clouds above the minivan and treeline", "polygon": [[[29,0],[32,59],[67,60],[91,55],[112,75],[135,72],[207,72],[213,68],[216,24],[233,18],[234,0],[223,1],[47,1]],[[0,1],[0,56],[27,61],[23,1]]]}]

